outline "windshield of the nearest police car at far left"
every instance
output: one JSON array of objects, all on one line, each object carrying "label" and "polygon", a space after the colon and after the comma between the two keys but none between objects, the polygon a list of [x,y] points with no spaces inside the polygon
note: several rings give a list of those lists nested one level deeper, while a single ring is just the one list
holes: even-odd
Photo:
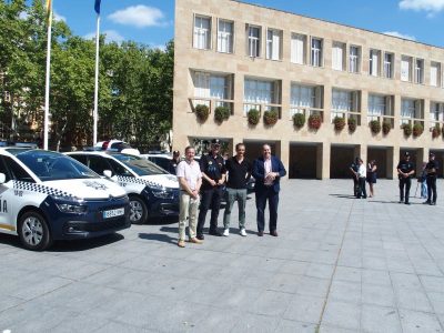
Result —
[{"label": "windshield of the nearest police car at far left", "polygon": [[41,181],[99,178],[92,170],[67,155],[44,150],[8,150]]}]

